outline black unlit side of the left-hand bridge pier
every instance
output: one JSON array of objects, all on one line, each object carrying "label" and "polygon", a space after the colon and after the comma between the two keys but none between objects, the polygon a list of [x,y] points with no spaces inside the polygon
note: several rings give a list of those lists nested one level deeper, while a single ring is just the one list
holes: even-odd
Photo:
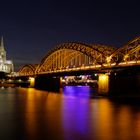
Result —
[{"label": "black unlit side of the left-hand bridge pier", "polygon": [[60,89],[60,78],[47,75],[37,76],[35,78],[35,88],[58,92]]}]

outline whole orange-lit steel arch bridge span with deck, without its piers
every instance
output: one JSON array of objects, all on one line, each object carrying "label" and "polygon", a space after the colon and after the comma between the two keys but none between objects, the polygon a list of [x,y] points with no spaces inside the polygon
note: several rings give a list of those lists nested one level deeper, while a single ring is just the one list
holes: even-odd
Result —
[{"label": "whole orange-lit steel arch bridge span with deck, without its piers", "polygon": [[62,43],[49,51],[37,66],[25,65],[19,75],[36,75],[53,72],[101,69],[140,64],[140,37],[117,49],[106,45]]}]

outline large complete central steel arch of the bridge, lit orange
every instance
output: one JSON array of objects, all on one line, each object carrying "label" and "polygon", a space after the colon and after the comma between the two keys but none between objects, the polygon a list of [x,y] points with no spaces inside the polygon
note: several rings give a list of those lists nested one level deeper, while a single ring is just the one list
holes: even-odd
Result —
[{"label": "large complete central steel arch of the bridge, lit orange", "polygon": [[56,46],[42,59],[36,73],[102,65],[106,63],[106,56],[110,55],[113,50],[114,48],[103,45],[63,43]]}]

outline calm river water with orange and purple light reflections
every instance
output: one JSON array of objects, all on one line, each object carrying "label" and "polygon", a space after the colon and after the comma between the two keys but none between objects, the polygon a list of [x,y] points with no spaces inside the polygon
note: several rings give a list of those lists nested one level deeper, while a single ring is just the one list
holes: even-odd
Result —
[{"label": "calm river water with orange and purple light reflections", "polygon": [[94,94],[0,89],[0,140],[140,140],[140,99]]}]

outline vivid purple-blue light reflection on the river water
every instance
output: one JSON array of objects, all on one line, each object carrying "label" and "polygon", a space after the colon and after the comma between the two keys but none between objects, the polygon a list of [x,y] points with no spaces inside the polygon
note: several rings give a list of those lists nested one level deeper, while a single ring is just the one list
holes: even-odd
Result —
[{"label": "vivid purple-blue light reflection on the river water", "polygon": [[[87,86],[66,86],[62,104],[62,126],[66,140],[86,139],[89,133],[89,97],[90,88]],[[75,98],[77,97],[78,98]],[[67,98],[68,97],[68,98]],[[88,115],[88,116],[87,116]]]}]

